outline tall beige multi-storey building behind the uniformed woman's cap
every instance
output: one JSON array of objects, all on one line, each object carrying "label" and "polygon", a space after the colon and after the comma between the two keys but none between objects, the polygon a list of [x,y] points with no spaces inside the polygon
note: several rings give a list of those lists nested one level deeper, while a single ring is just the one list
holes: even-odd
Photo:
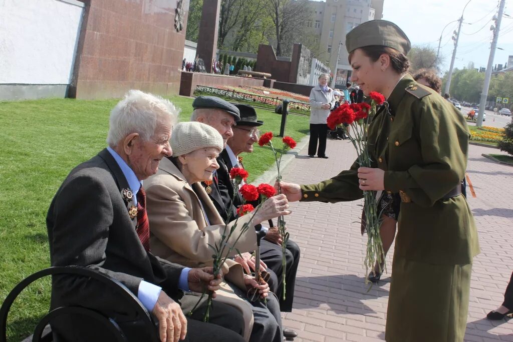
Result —
[{"label": "tall beige multi-storey building behind the uniformed woman's cap", "polygon": [[347,62],[346,34],[361,23],[381,19],[383,3],[384,0],[310,1],[314,15],[305,25],[319,37],[320,47],[325,49],[319,59],[325,61],[333,73],[337,70],[337,85],[345,85],[351,70]]}]

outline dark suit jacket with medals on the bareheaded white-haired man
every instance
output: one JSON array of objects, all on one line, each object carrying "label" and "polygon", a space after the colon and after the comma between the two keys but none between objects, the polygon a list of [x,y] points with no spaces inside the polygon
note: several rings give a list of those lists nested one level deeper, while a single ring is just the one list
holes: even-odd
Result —
[{"label": "dark suit jacket with medals on the bareheaded white-haired man", "polygon": [[[46,219],[51,265],[85,266],[106,273],[135,295],[144,279],[179,300],[183,267],[144,250],[135,231],[136,218],[128,214],[133,202],[123,198],[123,189],[129,189],[127,180],[107,149],[71,171],[55,194]],[[129,319],[119,298],[95,281],[76,276],[52,280],[52,308],[79,305]],[[63,325],[52,325],[54,330],[60,327]],[[72,327],[63,329],[60,333],[66,340],[85,339],[73,335]]]}]

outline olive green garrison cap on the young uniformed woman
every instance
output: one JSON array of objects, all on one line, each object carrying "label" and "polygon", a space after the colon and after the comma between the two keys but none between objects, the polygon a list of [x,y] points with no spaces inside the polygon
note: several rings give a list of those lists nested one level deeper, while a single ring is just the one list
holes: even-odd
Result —
[{"label": "olive green garrison cap on the young uniformed woman", "polygon": [[362,23],[346,34],[347,52],[365,46],[379,45],[396,49],[404,55],[411,49],[410,39],[392,22],[386,20],[371,20]]}]

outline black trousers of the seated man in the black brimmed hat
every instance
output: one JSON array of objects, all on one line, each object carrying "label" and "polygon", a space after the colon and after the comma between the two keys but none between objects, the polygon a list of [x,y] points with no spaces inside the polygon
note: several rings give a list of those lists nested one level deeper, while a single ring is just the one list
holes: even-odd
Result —
[{"label": "black trousers of the seated man in the black brimmed hat", "polygon": [[260,247],[260,258],[267,265],[270,274],[269,288],[280,300],[280,311],[291,312],[294,301],[295,276],[298,273],[301,251],[298,244],[292,240],[287,242],[285,252],[286,273],[285,273],[285,300],[283,299],[283,267],[282,247],[267,240],[262,240]]}]

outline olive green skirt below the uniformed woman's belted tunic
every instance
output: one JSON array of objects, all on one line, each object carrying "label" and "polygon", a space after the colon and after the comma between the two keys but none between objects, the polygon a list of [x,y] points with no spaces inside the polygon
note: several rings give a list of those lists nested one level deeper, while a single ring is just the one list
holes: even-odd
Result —
[{"label": "olive green skirt below the uniformed woman's belted tunic", "polygon": [[431,265],[393,258],[387,342],[461,342],[467,324],[468,265]]}]

